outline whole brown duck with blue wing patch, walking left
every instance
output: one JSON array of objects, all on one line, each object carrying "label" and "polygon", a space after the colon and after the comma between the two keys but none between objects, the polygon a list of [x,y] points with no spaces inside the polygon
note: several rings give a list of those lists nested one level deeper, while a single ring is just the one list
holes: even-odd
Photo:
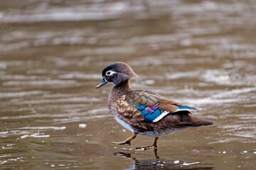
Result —
[{"label": "whole brown duck with blue wing patch, walking left", "polygon": [[102,81],[97,88],[112,83],[114,85],[108,106],[114,118],[124,128],[132,131],[132,136],[117,145],[128,144],[139,135],[155,137],[153,145],[142,149],[156,149],[159,136],[164,136],[191,127],[212,125],[191,115],[196,108],[164,98],[151,91],[133,90],[129,79],[137,77],[131,67],[124,62],[115,62],[102,71]]}]

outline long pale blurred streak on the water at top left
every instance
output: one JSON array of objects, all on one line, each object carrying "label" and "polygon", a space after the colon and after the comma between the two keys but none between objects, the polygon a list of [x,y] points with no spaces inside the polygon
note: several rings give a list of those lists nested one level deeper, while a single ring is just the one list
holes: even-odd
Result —
[{"label": "long pale blurred streak on the water at top left", "polygon": [[[112,5],[110,5],[112,4]],[[126,3],[110,3],[107,6],[98,6],[98,10],[102,11],[85,11],[84,8],[90,6],[74,6],[76,10],[70,8],[46,8],[43,13],[29,14],[31,11],[24,11],[24,14],[6,15],[2,13],[1,22],[4,23],[35,23],[35,22],[49,22],[49,21],[98,21],[119,18],[119,15],[125,11]],[[104,11],[108,11],[107,13]],[[27,13],[27,14],[26,14]]]}]

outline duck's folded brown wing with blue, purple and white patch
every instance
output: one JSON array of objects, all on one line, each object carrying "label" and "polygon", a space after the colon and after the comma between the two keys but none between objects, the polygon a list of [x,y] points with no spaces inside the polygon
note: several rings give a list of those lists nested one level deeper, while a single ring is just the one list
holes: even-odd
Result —
[{"label": "duck's folded brown wing with blue, purple and white patch", "polygon": [[164,98],[151,91],[131,91],[123,96],[122,102],[120,101],[119,103],[129,107],[128,110],[132,110],[132,113],[138,113],[137,111],[139,111],[144,116],[144,120],[149,123],[156,123],[172,113],[197,111],[196,108],[183,106],[181,103]]}]

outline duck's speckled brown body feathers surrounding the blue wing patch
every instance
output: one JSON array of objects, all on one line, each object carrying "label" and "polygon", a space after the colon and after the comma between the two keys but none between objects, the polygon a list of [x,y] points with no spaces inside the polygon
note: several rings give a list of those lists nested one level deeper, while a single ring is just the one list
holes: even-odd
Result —
[{"label": "duck's speckled brown body feathers surrounding the blue wing patch", "polygon": [[[133,104],[146,106],[154,106],[159,103],[159,108],[165,111],[176,111],[177,106],[182,106],[181,103],[166,99],[160,95],[148,93],[147,91],[127,91],[119,98],[117,98],[115,109],[112,113],[117,114],[119,118],[132,126],[134,130],[139,133],[146,131],[162,131],[166,129],[183,129],[192,126],[201,126],[203,121],[194,117],[188,111],[181,111],[166,115],[157,123],[149,123],[144,120],[144,116]],[[143,134],[142,134],[143,135]]]}]

